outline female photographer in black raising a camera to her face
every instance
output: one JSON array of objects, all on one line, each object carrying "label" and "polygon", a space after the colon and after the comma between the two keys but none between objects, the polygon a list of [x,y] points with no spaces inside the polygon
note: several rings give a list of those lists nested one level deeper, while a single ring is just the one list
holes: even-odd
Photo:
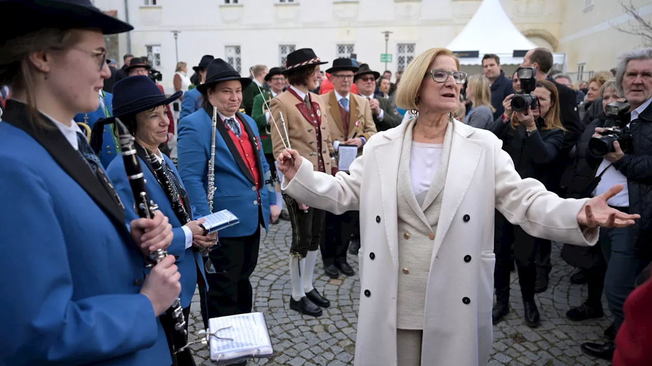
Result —
[{"label": "female photographer in black raising a camera to her face", "polygon": [[[505,98],[505,113],[489,130],[503,140],[503,150],[509,153],[522,178],[535,178],[546,184],[550,171],[554,169],[550,162],[557,158],[563,144],[564,128],[559,118],[557,88],[550,81],[537,81],[536,72],[535,68],[518,69],[522,94],[510,94]],[[550,240],[527,234],[497,211],[494,234],[496,305],[492,320],[497,324],[509,313],[512,244],[523,297],[524,320],[527,326],[536,328],[541,317],[534,301],[535,255],[540,246],[550,245]]]}]

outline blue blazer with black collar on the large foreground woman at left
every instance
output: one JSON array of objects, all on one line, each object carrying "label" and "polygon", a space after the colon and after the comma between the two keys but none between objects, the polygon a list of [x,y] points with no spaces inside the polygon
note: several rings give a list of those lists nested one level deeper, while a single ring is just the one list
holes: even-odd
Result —
[{"label": "blue blazer with black collar on the large foreground woman at left", "polygon": [[171,365],[115,195],[56,127],[31,129],[24,104],[10,102],[0,122],[0,363]]}]

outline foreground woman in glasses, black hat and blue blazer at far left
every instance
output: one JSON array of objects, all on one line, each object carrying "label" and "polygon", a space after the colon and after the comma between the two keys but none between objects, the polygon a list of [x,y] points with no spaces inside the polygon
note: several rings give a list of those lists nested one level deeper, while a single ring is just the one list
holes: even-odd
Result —
[{"label": "foreground woman in glasses, black hat and blue blazer at far left", "polygon": [[[133,29],[89,0],[5,0],[0,85],[0,363],[171,364],[158,315],[179,295],[168,219],[125,225],[122,202],[73,117],[95,111],[104,34]],[[93,29],[89,29],[92,25]],[[42,29],[42,28],[43,29]],[[25,46],[28,45],[28,46]]]}]

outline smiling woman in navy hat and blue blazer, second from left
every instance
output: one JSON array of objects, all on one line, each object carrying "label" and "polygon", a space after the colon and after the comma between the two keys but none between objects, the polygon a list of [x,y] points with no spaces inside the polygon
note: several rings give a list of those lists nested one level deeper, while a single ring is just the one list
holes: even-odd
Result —
[{"label": "smiling woman in navy hat and blue blazer, second from left", "polygon": [[[136,138],[136,152],[143,167],[147,193],[150,199],[158,204],[163,214],[170,218],[173,227],[174,236],[168,253],[175,256],[181,273],[181,307],[187,330],[190,301],[197,286],[197,274],[203,276],[204,272],[201,255],[196,249],[215,245],[217,234],[205,235],[205,230],[200,226],[204,219],[197,220],[199,215],[190,204],[177,169],[171,160],[158,150],[160,143],[168,141],[170,120],[166,115],[166,106],[179,99],[183,92],[166,98],[149,77],[130,76],[115,83],[113,93],[114,116],[119,117]],[[112,124],[115,117],[100,119],[96,123]],[[98,133],[100,136],[95,135]],[[95,129],[91,139],[101,139],[101,134],[101,129]],[[138,218],[134,211],[134,196],[125,175],[124,160],[113,160],[106,169],[106,174],[125,203],[126,220]],[[164,321],[163,328],[166,333],[171,334],[174,324]],[[173,364],[194,365],[192,358],[187,356],[188,354],[173,356]]]}]

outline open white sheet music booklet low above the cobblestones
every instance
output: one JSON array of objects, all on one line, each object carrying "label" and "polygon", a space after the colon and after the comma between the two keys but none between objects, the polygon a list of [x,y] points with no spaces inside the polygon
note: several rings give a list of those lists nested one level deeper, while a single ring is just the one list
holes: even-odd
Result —
[{"label": "open white sheet music booklet low above the cobblestones", "polygon": [[263,313],[230,315],[211,318],[209,346],[211,359],[231,363],[248,358],[268,358],[274,355]]}]

